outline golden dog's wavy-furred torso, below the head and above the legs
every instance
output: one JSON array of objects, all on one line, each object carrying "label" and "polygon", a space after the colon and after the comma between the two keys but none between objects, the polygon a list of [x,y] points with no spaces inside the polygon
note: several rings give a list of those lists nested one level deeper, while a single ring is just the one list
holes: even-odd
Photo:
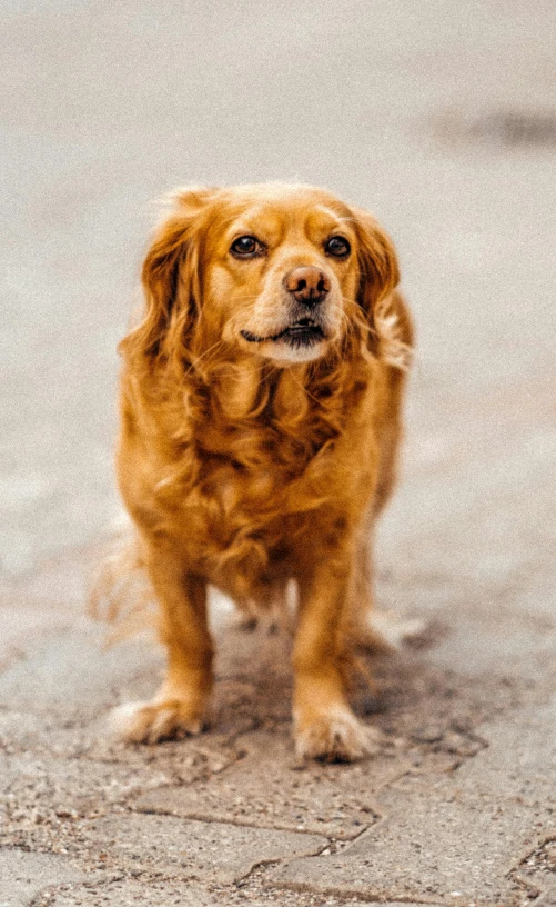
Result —
[{"label": "golden dog's wavy-furred torso, below the head and above the legs", "polygon": [[233,378],[190,386],[154,426],[124,377],[125,502],[140,527],[180,548],[188,570],[239,605],[264,606],[303,571],[307,546],[313,561],[353,542],[375,491],[387,379],[364,359],[334,387],[273,370],[253,395],[242,387],[241,411]]}]

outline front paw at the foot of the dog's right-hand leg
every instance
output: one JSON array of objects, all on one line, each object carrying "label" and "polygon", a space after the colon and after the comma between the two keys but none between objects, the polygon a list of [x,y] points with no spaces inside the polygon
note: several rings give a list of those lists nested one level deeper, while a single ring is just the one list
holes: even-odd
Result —
[{"label": "front paw at the foot of the dog's right-hand leg", "polygon": [[353,763],[378,750],[378,732],[348,708],[335,708],[295,722],[295,752],[301,758]]}]

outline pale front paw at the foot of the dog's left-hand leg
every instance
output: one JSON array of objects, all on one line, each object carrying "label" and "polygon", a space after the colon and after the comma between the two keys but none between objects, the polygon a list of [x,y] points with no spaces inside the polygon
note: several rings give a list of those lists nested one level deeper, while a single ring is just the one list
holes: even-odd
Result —
[{"label": "pale front paw at the foot of the dog's left-hand leg", "polygon": [[127,702],[110,715],[110,727],[129,744],[158,744],[183,739],[203,730],[203,717],[179,699]]}]

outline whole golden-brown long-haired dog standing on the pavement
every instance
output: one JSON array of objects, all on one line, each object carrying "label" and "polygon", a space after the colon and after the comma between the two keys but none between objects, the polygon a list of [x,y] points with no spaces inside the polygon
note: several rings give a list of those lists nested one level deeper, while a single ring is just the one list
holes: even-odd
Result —
[{"label": "whole golden-brown long-haired dog standing on the pavement", "polygon": [[168,671],[152,701],[120,709],[123,737],[203,728],[209,584],[249,614],[294,585],[296,750],[361,758],[370,731],[348,704],[350,668],[380,641],[370,547],[412,347],[392,242],[311,186],[189,188],[142,281],[143,320],[120,347],[118,474]]}]

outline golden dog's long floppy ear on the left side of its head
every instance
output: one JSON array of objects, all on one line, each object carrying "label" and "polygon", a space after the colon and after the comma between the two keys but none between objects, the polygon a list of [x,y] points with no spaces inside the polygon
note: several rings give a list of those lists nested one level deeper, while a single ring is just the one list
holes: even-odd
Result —
[{"label": "golden dog's long floppy ear on the left side of its head", "polygon": [[172,211],[155,231],[143,261],[143,319],[119,347],[128,358],[153,361],[168,358],[170,350],[179,356],[176,345],[186,343],[201,301],[201,216],[214,191],[192,187],[172,196]]}]

